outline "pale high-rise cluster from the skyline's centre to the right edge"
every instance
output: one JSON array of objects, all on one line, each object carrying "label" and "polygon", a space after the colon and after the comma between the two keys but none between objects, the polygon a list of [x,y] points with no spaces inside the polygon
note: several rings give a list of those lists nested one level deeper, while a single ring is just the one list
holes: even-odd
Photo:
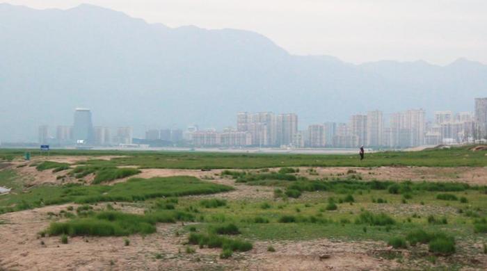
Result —
[{"label": "pale high-rise cluster from the skyline's centre to the right edge", "polygon": [[187,131],[195,147],[406,148],[460,144],[487,139],[487,98],[475,99],[475,111],[438,111],[432,121],[424,109],[384,115],[380,110],[351,115],[348,123],[325,122],[298,130],[294,113],[237,114],[237,129]]}]

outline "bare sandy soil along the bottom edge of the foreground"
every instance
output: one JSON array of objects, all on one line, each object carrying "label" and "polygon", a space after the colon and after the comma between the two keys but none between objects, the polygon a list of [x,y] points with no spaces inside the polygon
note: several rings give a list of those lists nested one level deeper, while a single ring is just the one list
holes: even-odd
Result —
[{"label": "bare sandy soil along the bottom edge of the foreground", "polygon": [[[186,254],[182,224],[159,224],[150,236],[75,237],[61,244],[58,236],[38,232],[53,221],[48,212],[67,206],[48,206],[0,215],[0,268],[6,270],[383,270],[394,263],[371,256],[383,243],[342,243],[330,240],[255,242],[250,252],[218,258],[221,249],[196,249]],[[128,210],[124,210],[128,211]],[[133,209],[131,211],[134,211]],[[41,243],[43,242],[43,243]],[[267,252],[272,245],[276,252]]]}]

